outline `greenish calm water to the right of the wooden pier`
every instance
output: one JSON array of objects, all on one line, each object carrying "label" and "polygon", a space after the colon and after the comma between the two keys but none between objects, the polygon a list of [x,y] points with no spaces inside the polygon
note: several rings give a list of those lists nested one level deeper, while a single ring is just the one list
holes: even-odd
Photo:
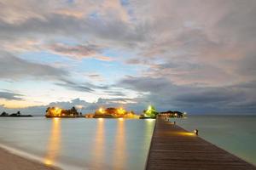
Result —
[{"label": "greenish calm water to the right of the wooden pier", "polygon": [[256,165],[256,116],[189,116],[175,121],[189,131],[197,128],[203,139]]}]

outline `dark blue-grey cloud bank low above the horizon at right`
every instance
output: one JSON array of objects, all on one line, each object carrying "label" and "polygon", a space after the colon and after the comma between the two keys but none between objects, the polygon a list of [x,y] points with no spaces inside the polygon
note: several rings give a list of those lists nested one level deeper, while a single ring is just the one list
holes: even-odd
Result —
[{"label": "dark blue-grey cloud bank low above the horizon at right", "polygon": [[[137,92],[148,92],[134,99],[138,107],[143,103],[157,105],[160,111],[181,110],[192,113],[254,113],[255,83],[225,87],[175,85],[165,78],[126,77],[120,86]],[[241,106],[241,107],[240,107]],[[247,106],[247,107],[246,107]],[[235,109],[236,108],[236,109]]]}]

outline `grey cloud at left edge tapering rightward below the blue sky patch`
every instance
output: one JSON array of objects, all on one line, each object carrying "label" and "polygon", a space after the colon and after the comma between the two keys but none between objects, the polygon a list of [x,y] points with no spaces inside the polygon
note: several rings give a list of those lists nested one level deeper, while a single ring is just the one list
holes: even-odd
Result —
[{"label": "grey cloud at left edge tapering rightward below the blue sky patch", "polygon": [[94,92],[93,88],[108,89],[104,86],[96,86],[89,82],[76,82],[68,78],[69,72],[50,65],[38,64],[15,57],[13,54],[1,53],[0,55],[0,79],[2,80],[47,80],[56,85],[80,92]]}]

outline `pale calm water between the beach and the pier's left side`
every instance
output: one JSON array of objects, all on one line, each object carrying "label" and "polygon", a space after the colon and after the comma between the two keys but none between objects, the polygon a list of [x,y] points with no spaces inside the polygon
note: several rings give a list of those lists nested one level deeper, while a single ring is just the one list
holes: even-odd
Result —
[{"label": "pale calm water between the beach and the pier's left side", "polygon": [[64,169],[143,169],[154,120],[0,118],[0,143]]}]

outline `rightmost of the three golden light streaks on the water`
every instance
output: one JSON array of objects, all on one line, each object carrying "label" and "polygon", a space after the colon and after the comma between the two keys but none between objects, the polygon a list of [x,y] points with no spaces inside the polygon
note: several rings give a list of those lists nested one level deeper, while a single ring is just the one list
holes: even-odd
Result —
[{"label": "rightmost of the three golden light streaks on the water", "polygon": [[116,134],[115,134],[115,150],[113,152],[113,169],[121,169],[125,167],[126,160],[126,143],[125,143],[125,121],[119,119],[117,122]]}]

